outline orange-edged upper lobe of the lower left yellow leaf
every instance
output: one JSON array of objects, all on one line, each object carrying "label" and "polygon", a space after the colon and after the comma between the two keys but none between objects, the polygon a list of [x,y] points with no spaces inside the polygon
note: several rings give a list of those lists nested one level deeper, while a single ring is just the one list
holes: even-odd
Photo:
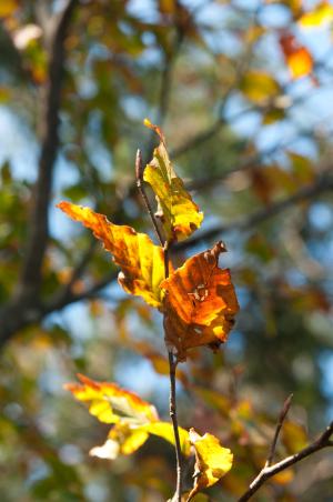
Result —
[{"label": "orange-edged upper lobe of the lower left yellow leaf", "polygon": [[90,403],[89,412],[104,423],[144,424],[158,420],[155,408],[133,392],[115,383],[95,382],[78,374],[82,383],[67,383],[65,389],[83,402]]}]

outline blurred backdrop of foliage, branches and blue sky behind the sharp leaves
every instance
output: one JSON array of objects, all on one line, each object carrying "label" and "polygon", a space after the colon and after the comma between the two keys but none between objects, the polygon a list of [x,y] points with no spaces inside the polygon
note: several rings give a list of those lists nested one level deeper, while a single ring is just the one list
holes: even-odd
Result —
[{"label": "blurred backdrop of foliage, branches and blue sky behind the sharp leaves", "polygon": [[[302,0],[0,2],[0,498],[167,500],[174,453],[88,455],[108,428],[62,389],[115,381],[168,418],[160,314],[117,283],[110,257],[56,203],[90,205],[153,235],[134,157],[159,123],[204,211],[174,263],[223,239],[241,305],[218,354],[193,351],[180,424],[234,452],[211,490],[235,501],[262,468],[293,392],[278,458],[333,414],[333,4]],[[325,451],[258,501],[332,501]]]}]

